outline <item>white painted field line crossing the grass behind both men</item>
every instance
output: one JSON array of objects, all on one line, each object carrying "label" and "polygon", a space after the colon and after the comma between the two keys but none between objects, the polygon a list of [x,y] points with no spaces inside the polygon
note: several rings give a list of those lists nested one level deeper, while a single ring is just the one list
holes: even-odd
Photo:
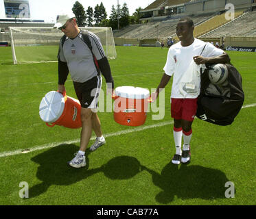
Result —
[{"label": "white painted field line crossing the grass behind both men", "polygon": [[[242,107],[242,109],[245,109],[245,108],[248,108],[248,107],[255,107],[255,106],[256,106],[256,103],[249,104],[249,105],[244,105]],[[113,136],[114,137],[115,136],[121,136],[121,135],[125,135],[125,134],[128,134],[128,133],[133,133],[133,132],[136,132],[136,131],[144,131],[144,130],[152,129],[152,128],[156,128],[156,127],[163,127],[165,125],[171,125],[173,123],[174,123],[173,121],[167,121],[167,122],[158,123],[158,124],[155,124],[155,125],[147,125],[147,126],[144,126],[144,127],[135,127],[133,129],[126,129],[126,130],[123,130],[123,131],[117,131],[115,133],[107,133],[107,134],[104,134],[104,137],[108,138],[108,137],[113,137]],[[91,138],[91,140],[95,140],[95,138],[96,137],[93,137],[93,138]],[[50,144],[43,144],[43,145],[40,145],[40,146],[34,146],[31,149],[22,149],[22,150],[20,149],[20,150],[16,150],[16,151],[6,151],[6,152],[3,152],[3,153],[0,153],[0,157],[9,157],[9,156],[12,156],[12,155],[30,153],[32,151],[40,151],[40,150],[44,150],[44,149],[54,148],[54,147],[59,146],[61,144],[75,144],[75,143],[78,143],[78,142],[80,142],[80,139],[70,140],[70,141],[66,141],[66,142],[54,142],[54,143],[50,143]]]}]

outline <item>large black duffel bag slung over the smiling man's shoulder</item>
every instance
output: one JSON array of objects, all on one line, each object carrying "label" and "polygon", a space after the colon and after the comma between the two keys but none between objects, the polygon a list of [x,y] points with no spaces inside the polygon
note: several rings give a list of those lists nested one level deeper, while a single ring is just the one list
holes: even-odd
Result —
[{"label": "large black duffel bag slung over the smiling man's shoulder", "polygon": [[196,116],[216,125],[231,125],[244,103],[242,77],[237,69],[226,64],[229,75],[225,86],[216,86],[209,80],[209,66],[201,73],[201,90]]}]

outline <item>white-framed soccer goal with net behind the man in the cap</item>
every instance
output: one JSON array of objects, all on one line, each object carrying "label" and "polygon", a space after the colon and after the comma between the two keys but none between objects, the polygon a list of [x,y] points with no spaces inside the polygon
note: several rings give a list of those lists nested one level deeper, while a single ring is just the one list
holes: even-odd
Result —
[{"label": "white-framed soccer goal with net behind the man in the cap", "polygon": [[[57,62],[62,31],[53,27],[9,27],[14,64]],[[96,34],[108,59],[115,59],[117,52],[111,27],[80,27]]]}]

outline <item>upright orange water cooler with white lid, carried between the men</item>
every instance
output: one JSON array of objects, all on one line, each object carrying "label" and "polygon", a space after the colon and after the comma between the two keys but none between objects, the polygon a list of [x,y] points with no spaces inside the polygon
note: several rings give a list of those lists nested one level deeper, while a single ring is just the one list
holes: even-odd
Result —
[{"label": "upright orange water cooler with white lid, carried between the men", "polygon": [[115,88],[114,119],[120,125],[143,125],[147,118],[150,92],[144,88],[121,86]]}]

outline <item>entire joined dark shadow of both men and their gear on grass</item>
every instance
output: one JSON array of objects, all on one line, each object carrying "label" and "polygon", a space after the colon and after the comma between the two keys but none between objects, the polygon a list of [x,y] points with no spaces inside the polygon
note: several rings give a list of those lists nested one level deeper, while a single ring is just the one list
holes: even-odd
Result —
[{"label": "entire joined dark shadow of both men and their gear on grass", "polygon": [[[169,163],[159,174],[141,165],[137,158],[128,156],[115,157],[100,168],[89,169],[89,150],[86,151],[86,166],[75,169],[68,166],[67,161],[73,158],[71,155],[76,151],[78,146],[64,144],[32,157],[33,162],[40,164],[36,177],[43,182],[30,188],[30,198],[43,194],[51,185],[71,185],[98,172],[104,172],[106,177],[115,180],[130,179],[142,171],[149,172],[154,185],[161,188],[161,192],[155,197],[158,203],[171,203],[174,196],[181,199],[225,198],[227,188],[224,185],[229,179],[220,170],[191,164],[181,164],[178,168]],[[138,188],[141,189],[143,190]]]}]

